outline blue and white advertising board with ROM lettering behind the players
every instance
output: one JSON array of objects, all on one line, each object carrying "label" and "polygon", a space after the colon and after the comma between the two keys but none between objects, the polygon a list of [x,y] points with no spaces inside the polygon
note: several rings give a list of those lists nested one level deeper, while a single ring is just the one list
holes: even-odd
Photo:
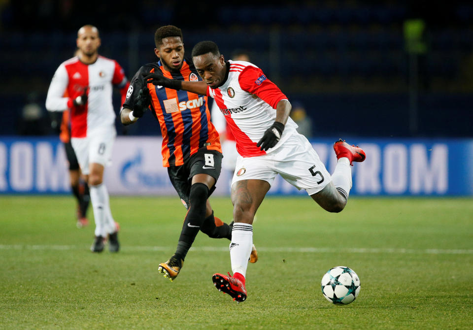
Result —
[{"label": "blue and white advertising board with ROM lettering behind the players", "polygon": [[[351,196],[472,196],[473,139],[350,138],[367,158],[352,167]],[[105,171],[111,194],[175,195],[161,164],[161,138],[119,137]],[[328,171],[337,159],[333,139],[311,143]],[[232,173],[222,171],[215,195],[228,195]],[[144,181],[143,181],[144,180]],[[0,194],[69,193],[67,159],[57,138],[0,138]],[[271,195],[303,195],[278,177]]]}]

